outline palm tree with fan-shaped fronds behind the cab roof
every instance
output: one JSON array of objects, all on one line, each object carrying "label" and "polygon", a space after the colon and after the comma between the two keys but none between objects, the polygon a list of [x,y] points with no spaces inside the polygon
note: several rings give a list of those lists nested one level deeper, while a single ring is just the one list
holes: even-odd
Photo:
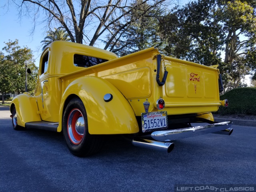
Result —
[{"label": "palm tree with fan-shaped fronds behind the cab roof", "polygon": [[57,40],[70,41],[70,38],[69,38],[66,30],[60,29],[60,28],[58,28],[58,29],[54,28],[54,31],[49,30],[47,32],[47,36],[44,38],[43,41],[41,41],[41,43],[43,43],[43,45],[44,45],[42,50],[44,50],[51,42],[54,42]]}]

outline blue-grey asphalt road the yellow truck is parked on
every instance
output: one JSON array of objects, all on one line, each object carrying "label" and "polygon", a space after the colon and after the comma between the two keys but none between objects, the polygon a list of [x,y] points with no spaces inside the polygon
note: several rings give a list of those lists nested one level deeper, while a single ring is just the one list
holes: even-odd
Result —
[{"label": "blue-grey asphalt road the yellow truck is parked on", "polygon": [[[256,184],[256,128],[175,142],[170,154],[110,137],[102,151],[78,158],[61,133],[15,131],[0,107],[0,191],[174,191],[176,184]],[[256,190],[256,188],[255,188]]]}]

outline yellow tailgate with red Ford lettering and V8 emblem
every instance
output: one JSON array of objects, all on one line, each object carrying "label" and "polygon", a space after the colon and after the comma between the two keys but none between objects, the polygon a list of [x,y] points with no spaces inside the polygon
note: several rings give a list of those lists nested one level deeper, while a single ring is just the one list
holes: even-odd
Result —
[{"label": "yellow tailgate with red Ford lettering and V8 emblem", "polygon": [[164,61],[168,76],[162,96],[166,107],[175,108],[173,114],[218,110],[218,69],[171,57]]}]

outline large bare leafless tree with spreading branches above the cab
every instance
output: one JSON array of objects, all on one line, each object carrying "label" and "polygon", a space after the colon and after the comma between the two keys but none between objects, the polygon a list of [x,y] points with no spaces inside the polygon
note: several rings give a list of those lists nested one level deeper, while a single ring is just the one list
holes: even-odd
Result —
[{"label": "large bare leafless tree with spreading branches above the cab", "polygon": [[[20,16],[34,18],[36,23],[40,14],[44,14],[42,22],[46,26],[62,26],[70,40],[94,46],[100,37],[110,36],[105,42],[108,49],[111,42],[131,24],[130,14],[134,10],[148,14],[156,7],[168,7],[174,0],[16,0],[20,4]],[[135,2],[135,3],[134,3]],[[165,3],[163,5],[163,3]],[[143,5],[147,6],[143,6]],[[40,12],[41,10],[41,12]],[[112,29],[115,29],[114,32]]]}]

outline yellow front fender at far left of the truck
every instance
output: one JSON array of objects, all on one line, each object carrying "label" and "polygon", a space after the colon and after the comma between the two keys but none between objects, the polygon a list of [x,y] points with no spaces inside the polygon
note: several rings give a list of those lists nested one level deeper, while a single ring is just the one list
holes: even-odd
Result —
[{"label": "yellow front fender at far left of the truck", "polygon": [[17,95],[10,104],[11,113],[14,106],[16,108],[17,123],[19,126],[25,127],[26,122],[41,121],[34,96],[28,94]]}]

